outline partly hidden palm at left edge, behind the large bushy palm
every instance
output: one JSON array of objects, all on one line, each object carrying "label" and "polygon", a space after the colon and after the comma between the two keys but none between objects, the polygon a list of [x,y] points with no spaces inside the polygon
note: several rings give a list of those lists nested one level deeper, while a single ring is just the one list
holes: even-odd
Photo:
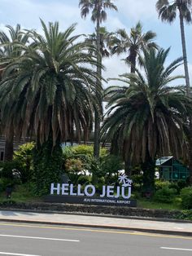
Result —
[{"label": "partly hidden palm at left edge, behind the large bushy palm", "polygon": [[[0,31],[0,75],[2,77],[3,70],[13,60],[16,60],[20,55],[24,53],[24,49],[21,46],[26,46],[28,43],[28,33],[24,33],[17,24],[15,29],[10,25],[6,26],[7,33]],[[4,120],[2,119],[2,124]],[[13,157],[13,139],[14,139],[14,127],[12,120],[9,117],[7,124],[4,124],[4,132],[6,137],[5,143],[5,160],[11,160]]]}]

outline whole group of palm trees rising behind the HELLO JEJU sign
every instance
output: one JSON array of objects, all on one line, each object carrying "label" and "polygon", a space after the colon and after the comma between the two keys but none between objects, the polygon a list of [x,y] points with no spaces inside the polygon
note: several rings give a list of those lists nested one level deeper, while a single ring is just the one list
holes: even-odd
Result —
[{"label": "whole group of palm trees rising behind the HELLO JEJU sign", "polygon": [[[6,135],[6,158],[12,154],[13,136],[33,136],[37,147],[51,139],[52,147],[66,140],[87,140],[94,123],[94,157],[100,139],[111,141],[111,152],[124,158],[125,170],[141,165],[145,189],[153,189],[155,158],[169,154],[192,161],[192,100],[185,51],[184,20],[191,21],[190,0],[159,0],[159,17],[172,22],[179,11],[183,58],[168,67],[156,34],[142,32],[138,22],[130,34],[124,29],[108,33],[101,27],[112,0],[80,0],[81,16],[91,11],[95,33],[74,35],[75,25],[59,31],[57,22],[41,20],[43,35],[13,29],[0,33],[1,128]],[[122,86],[103,90],[103,57],[126,54],[130,73],[120,76]],[[185,64],[186,86],[175,86],[183,76],[172,72]],[[138,68],[139,64],[140,68]],[[109,99],[103,119],[102,100]],[[8,152],[8,153],[7,153]],[[189,153],[188,153],[189,152]]]}]

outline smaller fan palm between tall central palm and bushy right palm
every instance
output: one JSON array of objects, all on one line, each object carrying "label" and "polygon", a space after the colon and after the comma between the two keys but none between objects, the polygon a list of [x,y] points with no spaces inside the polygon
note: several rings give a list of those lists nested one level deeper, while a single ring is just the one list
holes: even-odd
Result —
[{"label": "smaller fan palm between tall central palm and bushy right palm", "polygon": [[136,26],[130,31],[130,35],[125,29],[119,29],[114,37],[111,37],[110,48],[112,54],[120,55],[122,53],[128,54],[125,62],[130,65],[131,73],[135,73],[137,56],[144,48],[157,48],[154,42],[156,34],[147,31],[142,33],[142,24],[137,22]]}]

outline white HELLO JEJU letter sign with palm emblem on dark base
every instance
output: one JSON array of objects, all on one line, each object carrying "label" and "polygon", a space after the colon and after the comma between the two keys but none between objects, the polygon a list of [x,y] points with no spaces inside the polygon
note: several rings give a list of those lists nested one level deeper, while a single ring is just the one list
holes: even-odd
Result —
[{"label": "white HELLO JEJU letter sign with palm emblem on dark base", "polygon": [[96,193],[92,184],[84,187],[81,184],[75,186],[69,183],[51,183],[50,196],[46,196],[45,200],[89,205],[136,206],[136,201],[129,199],[133,181],[128,179],[126,174],[120,174],[118,179],[120,186],[104,185],[100,194]]}]

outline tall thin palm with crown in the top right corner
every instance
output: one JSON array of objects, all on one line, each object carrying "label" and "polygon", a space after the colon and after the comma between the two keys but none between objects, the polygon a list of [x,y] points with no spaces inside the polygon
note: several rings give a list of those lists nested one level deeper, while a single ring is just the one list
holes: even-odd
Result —
[{"label": "tall thin palm with crown in the top right corner", "polygon": [[190,95],[190,77],[187,66],[184,21],[188,24],[191,23],[191,8],[192,0],[173,0],[171,2],[169,2],[168,0],[159,0],[156,3],[156,9],[159,12],[159,17],[161,18],[161,20],[168,21],[168,23],[170,24],[174,20],[176,20],[177,11],[179,12],[187,95]]}]

